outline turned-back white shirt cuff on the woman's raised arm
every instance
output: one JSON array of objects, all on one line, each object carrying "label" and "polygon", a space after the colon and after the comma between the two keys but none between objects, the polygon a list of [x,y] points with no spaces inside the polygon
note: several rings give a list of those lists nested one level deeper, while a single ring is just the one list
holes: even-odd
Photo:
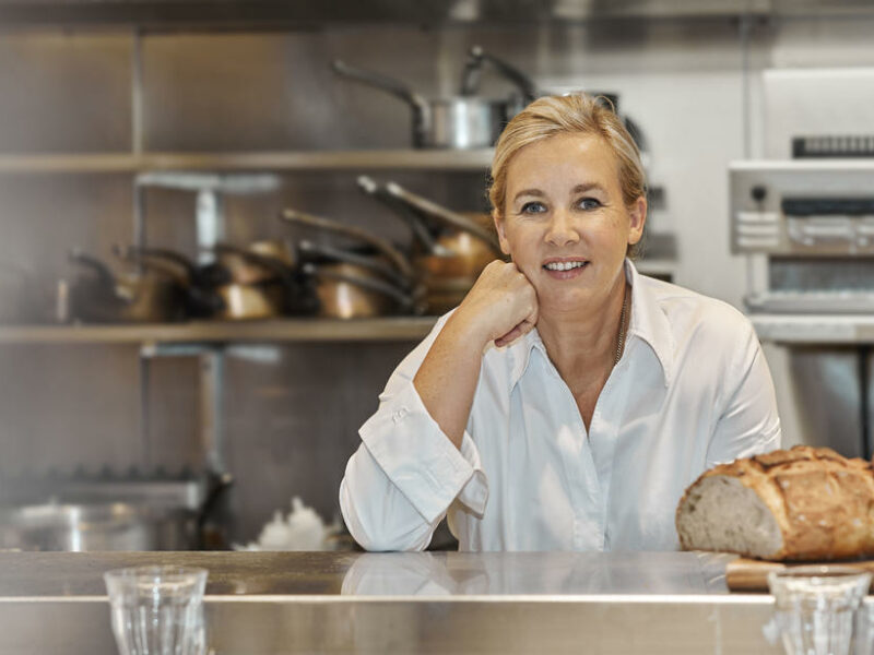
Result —
[{"label": "turned-back white shirt cuff on the woman's raised arm", "polygon": [[457,498],[482,515],[488,485],[468,432],[457,449],[422,403],[411,380],[362,426],[362,441],[386,476],[428,523]]}]

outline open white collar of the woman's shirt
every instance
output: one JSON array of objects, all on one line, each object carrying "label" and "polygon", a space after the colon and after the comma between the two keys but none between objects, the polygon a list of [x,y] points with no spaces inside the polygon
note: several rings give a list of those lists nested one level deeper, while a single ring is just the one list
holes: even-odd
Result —
[{"label": "open white collar of the woman's shirt", "polygon": [[[631,319],[626,338],[628,341],[633,337],[640,338],[652,348],[662,367],[664,385],[668,386],[671,383],[674,361],[674,336],[671,324],[658,300],[641,282],[640,273],[628,259],[625,260],[625,278],[631,285]],[[536,327],[508,346],[511,357],[510,390],[528,370],[531,352],[534,348],[544,357],[548,357]]]}]

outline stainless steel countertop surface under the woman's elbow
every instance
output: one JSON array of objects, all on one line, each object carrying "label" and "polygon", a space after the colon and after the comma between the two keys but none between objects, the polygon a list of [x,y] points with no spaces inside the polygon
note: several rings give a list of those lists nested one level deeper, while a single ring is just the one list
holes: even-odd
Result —
[{"label": "stainless steel countertop surface under the woman's elbow", "polygon": [[708,552],[0,552],[0,596],[101,596],[103,572],[210,571],[208,595],[728,594]]}]

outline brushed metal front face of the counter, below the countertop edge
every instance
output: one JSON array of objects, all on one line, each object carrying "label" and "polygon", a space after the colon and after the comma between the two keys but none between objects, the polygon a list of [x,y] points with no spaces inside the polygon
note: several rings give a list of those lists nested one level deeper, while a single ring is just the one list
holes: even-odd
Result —
[{"label": "brushed metal front face of the counter, below the countertop edge", "polygon": [[[216,655],[782,653],[763,634],[770,597],[324,598],[206,597]],[[51,630],[46,630],[51,626]],[[109,606],[0,600],[0,651],[114,655]]]}]

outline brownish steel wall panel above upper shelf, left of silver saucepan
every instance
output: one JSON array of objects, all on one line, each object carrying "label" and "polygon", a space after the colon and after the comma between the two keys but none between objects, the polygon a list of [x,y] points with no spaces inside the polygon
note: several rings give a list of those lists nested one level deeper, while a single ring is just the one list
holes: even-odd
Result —
[{"label": "brownish steel wall panel above upper shelf, left of silver saucepan", "polygon": [[143,45],[147,150],[405,147],[411,110],[341,80],[335,57],[429,93],[437,40],[412,27],[158,35]]}]

